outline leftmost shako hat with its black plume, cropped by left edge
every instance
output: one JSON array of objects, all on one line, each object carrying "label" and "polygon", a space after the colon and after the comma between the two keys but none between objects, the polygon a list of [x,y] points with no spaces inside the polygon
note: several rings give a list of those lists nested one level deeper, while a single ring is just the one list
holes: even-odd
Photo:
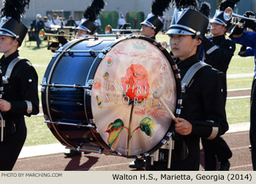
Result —
[{"label": "leftmost shako hat with its black plume, cropped by left edge", "polygon": [[29,7],[30,0],[4,0],[1,8],[0,35],[15,37],[19,45],[26,37],[28,28],[20,22],[25,13],[25,7]]}]

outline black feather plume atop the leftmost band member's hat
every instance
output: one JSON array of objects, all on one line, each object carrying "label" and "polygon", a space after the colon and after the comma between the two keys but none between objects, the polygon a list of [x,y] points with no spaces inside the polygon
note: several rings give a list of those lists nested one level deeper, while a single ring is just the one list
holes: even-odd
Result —
[{"label": "black feather plume atop the leftmost band member's hat", "polygon": [[12,17],[20,21],[22,15],[26,12],[25,8],[29,8],[30,0],[3,0],[1,8],[1,16]]}]

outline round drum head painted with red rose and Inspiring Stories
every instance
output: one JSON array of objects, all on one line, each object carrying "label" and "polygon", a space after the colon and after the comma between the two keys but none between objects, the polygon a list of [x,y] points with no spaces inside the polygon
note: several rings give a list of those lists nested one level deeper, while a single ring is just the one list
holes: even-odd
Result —
[{"label": "round drum head painted with red rose and Inspiring Stories", "polygon": [[94,75],[91,109],[104,142],[124,156],[138,156],[165,137],[172,118],[154,99],[176,110],[176,79],[164,53],[146,39],[125,39],[105,55]]}]

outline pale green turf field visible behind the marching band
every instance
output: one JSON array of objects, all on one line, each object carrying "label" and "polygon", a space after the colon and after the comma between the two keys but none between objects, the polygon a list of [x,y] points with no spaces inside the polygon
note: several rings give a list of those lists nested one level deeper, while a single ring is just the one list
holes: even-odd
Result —
[{"label": "pale green turf field visible behind the marching band", "polygon": [[[169,42],[167,36],[159,35],[157,39],[160,42]],[[25,42],[24,42],[25,43]],[[50,62],[53,53],[47,50],[48,43],[42,42],[42,47],[36,48],[36,42],[26,42],[26,45],[20,48],[20,56],[28,58],[34,65],[39,76],[39,84],[42,83],[42,77],[45,73],[45,69]],[[227,74],[244,74],[253,73],[255,67],[254,58],[241,58],[237,55],[240,46],[236,45],[236,53],[230,62]],[[227,88],[251,88],[252,77],[241,78],[228,78]],[[40,91],[39,91],[40,96]],[[248,99],[230,99],[227,100],[227,122],[228,123],[242,123],[249,121],[249,98]],[[26,125],[28,127],[28,136],[26,139],[26,146],[31,145],[45,145],[50,143],[59,142],[44,123],[42,116],[26,118]]]}]

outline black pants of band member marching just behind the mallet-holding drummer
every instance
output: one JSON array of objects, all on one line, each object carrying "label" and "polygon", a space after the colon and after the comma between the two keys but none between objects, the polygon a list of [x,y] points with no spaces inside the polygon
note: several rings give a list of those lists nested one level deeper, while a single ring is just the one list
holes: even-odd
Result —
[{"label": "black pants of band member marching just behind the mallet-holding drummer", "polygon": [[206,171],[216,171],[217,159],[220,162],[227,161],[232,157],[230,147],[222,137],[216,137],[215,139],[202,139],[202,145],[205,156]]}]

